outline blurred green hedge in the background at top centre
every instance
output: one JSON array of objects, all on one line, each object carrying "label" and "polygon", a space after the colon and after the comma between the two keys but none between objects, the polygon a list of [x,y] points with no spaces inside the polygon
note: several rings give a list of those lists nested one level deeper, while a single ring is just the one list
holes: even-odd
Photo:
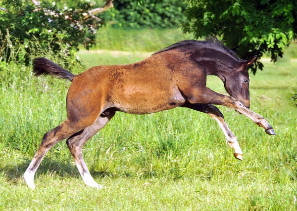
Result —
[{"label": "blurred green hedge in the background at top centre", "polygon": [[100,18],[109,21],[117,28],[169,28],[185,23],[187,4],[181,0],[162,0],[154,4],[145,0],[114,0],[114,8],[100,14]]}]

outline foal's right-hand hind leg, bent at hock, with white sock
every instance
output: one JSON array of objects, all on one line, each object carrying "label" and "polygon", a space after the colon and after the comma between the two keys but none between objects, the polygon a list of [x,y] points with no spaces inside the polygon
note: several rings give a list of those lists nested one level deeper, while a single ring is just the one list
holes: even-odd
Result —
[{"label": "foal's right-hand hind leg, bent at hock, with white sock", "polygon": [[90,174],[90,171],[88,170],[82,156],[82,148],[91,137],[93,137],[101,128],[103,128],[109,122],[114,114],[115,112],[112,112],[108,116],[99,116],[97,121],[93,125],[73,134],[66,141],[67,146],[74,158],[75,165],[87,186],[102,188],[101,185],[95,182],[92,175]]}]

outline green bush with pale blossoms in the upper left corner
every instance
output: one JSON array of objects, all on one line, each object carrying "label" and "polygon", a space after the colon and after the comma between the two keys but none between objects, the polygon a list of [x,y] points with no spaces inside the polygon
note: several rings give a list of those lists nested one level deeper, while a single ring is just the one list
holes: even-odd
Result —
[{"label": "green bush with pale blossoms in the upper left corner", "polygon": [[95,30],[101,26],[93,19],[84,19],[83,13],[90,9],[87,3],[63,10],[47,3],[36,8],[23,0],[4,0],[1,6],[1,61],[13,58],[28,65],[32,56],[49,51],[67,60],[79,50],[79,44],[91,47]]}]

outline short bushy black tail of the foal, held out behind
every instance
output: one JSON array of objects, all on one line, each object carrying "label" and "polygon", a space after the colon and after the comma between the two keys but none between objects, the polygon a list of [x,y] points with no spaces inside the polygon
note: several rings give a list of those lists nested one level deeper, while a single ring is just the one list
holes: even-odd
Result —
[{"label": "short bushy black tail of the foal, held out behind", "polygon": [[50,61],[49,59],[39,57],[33,60],[33,74],[34,76],[52,75],[59,79],[68,79],[72,82],[73,75],[69,71]]}]

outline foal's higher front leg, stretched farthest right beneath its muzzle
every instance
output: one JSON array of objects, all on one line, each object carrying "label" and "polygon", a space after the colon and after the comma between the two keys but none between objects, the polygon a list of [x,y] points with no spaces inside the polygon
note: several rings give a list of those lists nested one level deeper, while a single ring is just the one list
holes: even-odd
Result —
[{"label": "foal's higher front leg, stretched farthest right beneath its muzzle", "polygon": [[263,127],[265,132],[269,135],[276,135],[274,129],[269,125],[269,123],[259,114],[249,110],[241,102],[235,99],[232,96],[226,96],[219,94],[208,87],[193,87],[189,88],[184,92],[185,96],[188,98],[188,101],[192,104],[203,103],[203,104],[215,104],[215,105],[224,105],[229,108],[233,108],[241,114],[246,115],[258,126]]}]

